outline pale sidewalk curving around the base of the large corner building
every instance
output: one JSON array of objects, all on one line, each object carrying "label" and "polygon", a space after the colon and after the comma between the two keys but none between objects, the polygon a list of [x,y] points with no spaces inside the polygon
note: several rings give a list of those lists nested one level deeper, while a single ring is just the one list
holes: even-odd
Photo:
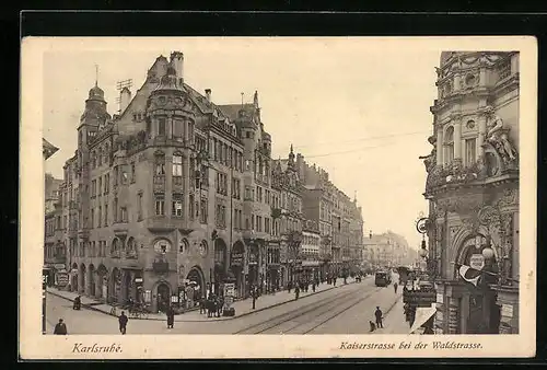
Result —
[{"label": "pale sidewalk curving around the base of the large corner building", "polygon": [[[365,279],[369,279],[370,277],[365,277]],[[348,285],[356,282],[356,279],[353,278],[348,278]],[[305,292],[300,292],[300,299],[306,298],[313,294],[317,294],[327,290],[331,289],[338,289],[340,287],[344,287],[344,279],[338,279],[336,287],[333,287],[331,285],[327,285],[326,282],[319,284],[318,287],[315,288],[315,292],[312,291],[312,287],[310,286],[310,290],[307,293]],[[74,301],[74,298],[78,296],[75,292],[71,291],[65,291],[65,290],[58,290],[56,288],[47,288],[47,292],[57,296],[63,299],[67,299],[69,301]],[[82,308],[93,310],[93,311],[100,311],[105,314],[110,314],[112,305],[103,303],[98,300],[91,299],[89,297],[80,296],[81,301],[82,301]],[[207,314],[201,314],[199,313],[199,309],[194,309],[191,311],[187,311],[185,313],[175,315],[175,322],[209,322],[209,321],[222,321],[222,320],[232,320],[241,316],[245,316],[255,312],[260,312],[267,309],[271,309],[284,303],[289,303],[294,301],[294,289],[291,290],[289,293],[286,290],[278,291],[276,293],[271,294],[263,294],[256,300],[256,309],[253,310],[253,301],[251,298],[247,298],[245,300],[240,300],[235,301],[232,307],[235,309],[235,316],[221,316],[221,317],[207,317]],[[117,313],[119,314],[121,312],[120,308],[116,309]],[[143,317],[131,317],[131,320],[166,320],[165,314],[163,313],[150,313],[148,314],[147,319]]]}]

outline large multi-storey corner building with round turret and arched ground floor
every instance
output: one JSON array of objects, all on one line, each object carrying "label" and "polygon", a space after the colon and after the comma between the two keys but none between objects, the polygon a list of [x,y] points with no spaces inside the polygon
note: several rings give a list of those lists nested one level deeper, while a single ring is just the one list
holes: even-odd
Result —
[{"label": "large multi-storey corner building with round turret and arched ground floor", "polygon": [[[70,289],[165,310],[234,281],[263,284],[271,137],[253,104],[216,105],[184,82],[184,56],[160,56],[112,117],[90,90],[60,188]],[[193,284],[189,284],[191,282]]]}]

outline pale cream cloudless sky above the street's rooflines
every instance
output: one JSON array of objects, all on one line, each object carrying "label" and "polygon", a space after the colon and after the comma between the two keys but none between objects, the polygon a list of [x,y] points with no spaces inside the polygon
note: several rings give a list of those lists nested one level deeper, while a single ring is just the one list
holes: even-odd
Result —
[{"label": "pale cream cloudless sky above the street's rooflines", "polygon": [[[441,49],[412,41],[366,38],[175,39],[117,48],[93,45],[51,49],[43,59],[44,138],[59,151],[46,172],[62,178],[77,149],[77,127],[89,90],[105,91],[108,112],[118,109],[116,82],[132,79],[135,93],[155,58],[184,53],[184,79],[212,90],[216,104],[252,102],[258,91],[272,158],[291,143],[363,209],[364,233],[387,230],[418,247],[415,222],[427,213],[426,171],[419,155],[431,146],[437,97],[434,68]],[[98,73],[96,73],[95,65]]]}]

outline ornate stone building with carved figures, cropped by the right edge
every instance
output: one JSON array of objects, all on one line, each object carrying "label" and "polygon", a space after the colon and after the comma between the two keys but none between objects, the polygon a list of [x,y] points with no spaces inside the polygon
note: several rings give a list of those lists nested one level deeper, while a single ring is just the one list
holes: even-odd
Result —
[{"label": "ornate stone building with carved figures, cropped by the right edge", "polygon": [[[519,53],[445,51],[437,71],[422,158],[437,332],[519,333]],[[487,274],[472,285],[462,265]]]}]

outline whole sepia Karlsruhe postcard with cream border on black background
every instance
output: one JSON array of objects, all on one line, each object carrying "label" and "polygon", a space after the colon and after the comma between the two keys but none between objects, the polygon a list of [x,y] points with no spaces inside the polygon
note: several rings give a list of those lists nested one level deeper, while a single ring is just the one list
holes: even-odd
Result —
[{"label": "whole sepia Karlsruhe postcard with cream border on black background", "polygon": [[22,49],[31,357],[534,354],[533,38]]}]

